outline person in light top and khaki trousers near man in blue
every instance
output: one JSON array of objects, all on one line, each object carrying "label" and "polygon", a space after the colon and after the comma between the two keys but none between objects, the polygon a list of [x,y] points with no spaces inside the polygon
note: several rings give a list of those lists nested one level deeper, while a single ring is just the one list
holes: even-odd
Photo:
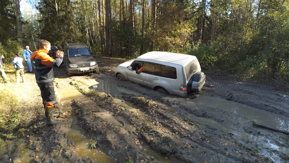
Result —
[{"label": "person in light top and khaki trousers near man in blue", "polygon": [[16,83],[19,84],[19,74],[22,77],[22,82],[25,83],[25,76],[24,76],[24,66],[23,66],[23,59],[19,57],[19,53],[15,53],[15,58],[12,61],[12,65],[14,66],[15,71],[15,78]]}]

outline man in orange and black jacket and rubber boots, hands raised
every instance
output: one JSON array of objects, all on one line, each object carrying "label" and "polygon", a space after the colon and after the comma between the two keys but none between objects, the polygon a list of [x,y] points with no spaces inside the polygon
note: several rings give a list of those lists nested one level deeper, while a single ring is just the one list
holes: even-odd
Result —
[{"label": "man in orange and black jacket and rubber boots, hands raised", "polygon": [[55,108],[58,108],[58,104],[54,104],[55,95],[53,85],[53,65],[56,64],[57,66],[60,66],[63,59],[63,52],[57,50],[56,59],[52,59],[47,54],[50,47],[50,42],[47,40],[40,40],[40,49],[33,52],[30,58],[34,60],[35,78],[41,91],[42,103],[45,109],[46,124],[54,125],[58,123],[57,121],[52,120],[52,117],[57,116],[57,114],[54,114],[53,112],[55,111]]}]

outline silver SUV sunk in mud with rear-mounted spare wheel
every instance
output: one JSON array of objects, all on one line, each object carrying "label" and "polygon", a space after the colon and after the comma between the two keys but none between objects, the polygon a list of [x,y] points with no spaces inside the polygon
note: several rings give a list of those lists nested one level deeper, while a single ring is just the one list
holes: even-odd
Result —
[{"label": "silver SUV sunk in mud with rear-mounted spare wheel", "polygon": [[[137,74],[136,65],[140,63],[143,63],[143,71]],[[206,80],[196,56],[156,51],[118,65],[116,76],[121,80],[182,97],[201,91]]]}]

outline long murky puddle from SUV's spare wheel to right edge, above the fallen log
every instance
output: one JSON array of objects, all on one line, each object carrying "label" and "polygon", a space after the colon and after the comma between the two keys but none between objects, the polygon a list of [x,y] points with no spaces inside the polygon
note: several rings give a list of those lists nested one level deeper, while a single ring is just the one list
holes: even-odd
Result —
[{"label": "long murky puddle from SUV's spare wheel to right edge, above the fallen log", "polygon": [[219,108],[244,117],[250,121],[272,128],[289,131],[289,118],[245,104],[228,101],[219,97],[202,96],[193,100],[196,104],[211,108]]}]

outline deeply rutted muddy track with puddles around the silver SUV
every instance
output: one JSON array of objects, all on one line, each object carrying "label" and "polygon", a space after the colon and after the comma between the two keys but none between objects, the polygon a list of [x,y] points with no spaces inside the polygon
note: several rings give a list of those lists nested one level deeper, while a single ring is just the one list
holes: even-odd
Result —
[{"label": "deeply rutted muddy track with puddles around the silver SUV", "polygon": [[68,78],[54,68],[61,122],[44,123],[40,91],[22,109],[25,131],[0,151],[1,162],[286,162],[289,93],[207,75],[200,94],[160,94],[114,77],[123,59],[96,58],[100,75]]}]

